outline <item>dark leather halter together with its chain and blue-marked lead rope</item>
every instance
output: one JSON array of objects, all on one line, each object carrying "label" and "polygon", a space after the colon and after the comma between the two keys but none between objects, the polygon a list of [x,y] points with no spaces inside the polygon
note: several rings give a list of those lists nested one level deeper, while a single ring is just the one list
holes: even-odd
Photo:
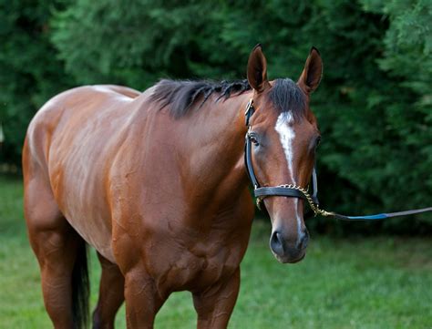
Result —
[{"label": "dark leather halter together with its chain and blue-marked lead rope", "polygon": [[256,205],[258,209],[262,209],[262,203],[264,198],[266,197],[290,197],[290,198],[299,198],[303,200],[307,200],[309,206],[312,211],[314,211],[314,215],[322,215],[324,217],[334,217],[339,220],[344,221],[375,221],[375,220],[385,220],[386,218],[398,217],[398,216],[406,216],[412,215],[421,212],[432,211],[432,207],[423,208],[423,209],[415,209],[410,211],[398,211],[398,212],[389,212],[389,213],[378,213],[375,215],[367,215],[367,216],[345,216],[339,213],[324,211],[319,208],[318,201],[318,181],[316,178],[316,170],[314,166],[314,170],[312,171],[312,195],[309,194],[307,189],[303,189],[300,186],[294,184],[283,184],[279,186],[272,187],[260,187],[260,183],[258,182],[255,173],[253,171],[252,166],[252,140],[251,140],[251,117],[255,112],[255,108],[253,108],[253,99],[249,99],[249,102],[246,106],[246,110],[244,111],[245,123],[248,131],[246,133],[246,142],[244,146],[244,163],[246,167],[246,172],[249,176],[249,179],[252,181],[253,185],[253,195],[256,198]]}]

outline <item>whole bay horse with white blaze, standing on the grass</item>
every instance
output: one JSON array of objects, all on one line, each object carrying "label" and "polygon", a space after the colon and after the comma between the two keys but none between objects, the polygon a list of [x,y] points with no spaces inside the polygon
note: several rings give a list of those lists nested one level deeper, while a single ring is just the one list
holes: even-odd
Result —
[{"label": "whole bay horse with white blaze, standing on the grass", "polygon": [[[151,328],[161,305],[190,291],[198,328],[225,328],[240,286],[254,207],[245,170],[244,109],[252,164],[262,186],[305,187],[320,139],[309,99],[322,76],[313,47],[303,73],[269,81],[262,46],[247,80],[161,80],[77,87],[50,99],[23,149],[25,216],[56,328],[87,324],[87,256],[102,273],[96,328],[112,328],[126,301],[129,328]],[[303,200],[268,197],[270,247],[280,262],[303,259]]]}]

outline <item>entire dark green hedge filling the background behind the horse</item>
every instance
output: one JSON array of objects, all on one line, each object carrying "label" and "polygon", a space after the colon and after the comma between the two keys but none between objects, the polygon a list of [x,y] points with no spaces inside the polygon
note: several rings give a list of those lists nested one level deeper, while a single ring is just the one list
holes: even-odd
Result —
[{"label": "entire dark green hedge filling the background behind the horse", "polygon": [[[69,86],[144,89],[160,77],[243,78],[257,42],[271,78],[295,79],[314,45],[324,59],[312,104],[324,138],[318,159],[323,204],[356,214],[430,203],[429,0],[0,3],[6,45],[0,53],[0,160],[17,161],[36,108]],[[334,227],[324,219],[311,225]],[[427,231],[432,217],[382,225]]]}]

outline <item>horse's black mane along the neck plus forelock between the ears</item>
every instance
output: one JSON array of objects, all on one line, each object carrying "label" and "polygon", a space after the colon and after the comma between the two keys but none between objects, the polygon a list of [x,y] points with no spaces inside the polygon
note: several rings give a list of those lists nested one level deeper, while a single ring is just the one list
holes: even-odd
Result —
[{"label": "horse's black mane along the neck plus forelock between the ears", "polygon": [[[201,99],[199,108],[211,97],[218,93],[221,98],[230,98],[232,94],[240,95],[251,90],[247,80],[239,81],[209,81],[209,80],[168,80],[162,79],[155,86],[150,99],[159,102],[160,108],[169,108],[174,118],[185,116],[192,105]],[[269,98],[274,108],[280,112],[291,112],[294,118],[302,118],[305,114],[305,98],[303,91],[293,80],[280,78],[274,81],[269,92]]]}]

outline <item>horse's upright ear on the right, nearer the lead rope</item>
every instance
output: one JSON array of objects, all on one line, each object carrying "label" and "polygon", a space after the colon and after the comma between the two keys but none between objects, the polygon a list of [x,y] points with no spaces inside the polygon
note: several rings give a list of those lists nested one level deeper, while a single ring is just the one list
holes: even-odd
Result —
[{"label": "horse's upright ear on the right, nearer the lead rope", "polygon": [[323,76],[323,60],[320,52],[314,46],[306,59],[302,75],[297,81],[306,94],[313,92],[320,84]]}]

